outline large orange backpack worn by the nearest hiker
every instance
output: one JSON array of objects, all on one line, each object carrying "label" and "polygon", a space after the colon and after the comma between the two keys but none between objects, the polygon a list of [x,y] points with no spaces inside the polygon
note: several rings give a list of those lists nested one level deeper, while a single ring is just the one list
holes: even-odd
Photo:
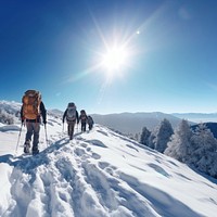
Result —
[{"label": "large orange backpack worn by the nearest hiker", "polygon": [[27,90],[23,98],[23,117],[37,119],[40,116],[41,94],[37,90]]}]

